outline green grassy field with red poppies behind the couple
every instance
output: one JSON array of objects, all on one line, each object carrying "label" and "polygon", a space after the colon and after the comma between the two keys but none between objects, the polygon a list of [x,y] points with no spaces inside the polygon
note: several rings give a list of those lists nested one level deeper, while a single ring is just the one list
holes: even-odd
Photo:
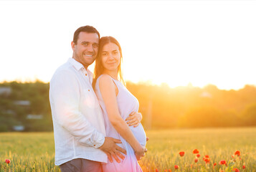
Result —
[{"label": "green grassy field with red poppies behind the couple", "polygon": [[[147,130],[143,171],[256,171],[256,128]],[[194,163],[193,150],[201,155]],[[183,157],[179,152],[184,151]],[[240,157],[232,155],[240,151]],[[203,157],[209,155],[210,162]],[[11,163],[7,165],[5,159]],[[227,166],[219,161],[227,161]],[[234,161],[235,160],[235,161]],[[60,171],[54,166],[53,133],[0,133],[0,171]],[[217,166],[213,168],[213,164]],[[245,169],[242,169],[245,166]]]}]

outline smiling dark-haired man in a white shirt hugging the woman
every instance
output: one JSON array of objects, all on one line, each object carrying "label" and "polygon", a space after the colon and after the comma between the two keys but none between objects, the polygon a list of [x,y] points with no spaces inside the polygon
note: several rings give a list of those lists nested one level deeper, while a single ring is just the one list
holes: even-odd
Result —
[{"label": "smiling dark-haired man in a white shirt hugging the woman", "polygon": [[125,158],[125,150],[115,144],[120,140],[105,137],[103,114],[91,85],[93,74],[87,70],[97,57],[99,39],[94,27],[78,28],[71,43],[72,58],[50,81],[55,165],[62,172],[101,171],[100,162]]}]

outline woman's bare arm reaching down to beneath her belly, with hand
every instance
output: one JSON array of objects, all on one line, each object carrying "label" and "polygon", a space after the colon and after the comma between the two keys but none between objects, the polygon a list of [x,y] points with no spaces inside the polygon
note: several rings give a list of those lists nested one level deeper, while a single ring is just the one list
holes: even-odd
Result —
[{"label": "woman's bare arm reaching down to beneath her belly, with hand", "polygon": [[115,95],[115,84],[109,75],[103,75],[99,79],[100,92],[103,96],[103,101],[108,113],[110,123],[115,130],[131,145],[136,153],[136,158],[139,160],[141,156],[144,156],[145,148],[138,143],[138,140],[134,137],[125,120],[120,116],[118,110],[118,102]]}]

